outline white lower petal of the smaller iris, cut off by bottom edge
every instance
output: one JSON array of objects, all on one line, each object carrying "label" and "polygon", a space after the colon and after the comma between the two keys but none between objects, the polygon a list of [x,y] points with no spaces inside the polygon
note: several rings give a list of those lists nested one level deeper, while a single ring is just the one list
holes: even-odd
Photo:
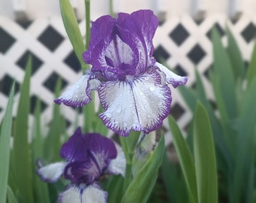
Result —
[{"label": "white lower petal of the smaller iris, cut off by bottom edge", "polygon": [[59,194],[59,203],[106,203],[108,192],[103,191],[96,184],[85,186],[70,186]]}]

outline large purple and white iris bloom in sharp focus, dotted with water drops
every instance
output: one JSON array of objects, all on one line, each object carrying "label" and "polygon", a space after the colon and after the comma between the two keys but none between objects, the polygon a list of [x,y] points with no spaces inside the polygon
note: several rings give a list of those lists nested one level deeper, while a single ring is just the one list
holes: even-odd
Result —
[{"label": "large purple and white iris bloom in sharp focus, dotted with water drops", "polygon": [[97,90],[105,126],[119,135],[151,132],[163,124],[172,102],[168,84],[187,82],[156,62],[152,38],[158,26],[149,10],[99,17],[93,22],[84,61],[92,65],[80,80],[54,101],[72,107],[91,102]]}]

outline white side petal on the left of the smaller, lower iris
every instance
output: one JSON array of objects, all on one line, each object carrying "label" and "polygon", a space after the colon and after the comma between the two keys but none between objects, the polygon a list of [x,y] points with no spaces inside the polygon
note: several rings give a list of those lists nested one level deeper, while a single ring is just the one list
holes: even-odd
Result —
[{"label": "white side petal on the left of the smaller, lower iris", "polygon": [[53,183],[56,182],[59,177],[63,174],[67,162],[56,162],[50,165],[45,165],[38,168],[38,175],[42,180]]}]

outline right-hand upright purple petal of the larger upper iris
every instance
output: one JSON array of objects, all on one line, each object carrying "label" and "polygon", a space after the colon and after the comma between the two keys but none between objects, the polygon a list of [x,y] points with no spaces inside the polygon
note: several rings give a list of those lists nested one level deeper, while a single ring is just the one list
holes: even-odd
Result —
[{"label": "right-hand upright purple petal of the larger upper iris", "polygon": [[120,38],[133,49],[138,50],[139,58],[136,74],[144,73],[155,62],[152,59],[154,46],[152,38],[158,26],[153,11],[140,10],[132,14],[118,14],[117,26]]}]

